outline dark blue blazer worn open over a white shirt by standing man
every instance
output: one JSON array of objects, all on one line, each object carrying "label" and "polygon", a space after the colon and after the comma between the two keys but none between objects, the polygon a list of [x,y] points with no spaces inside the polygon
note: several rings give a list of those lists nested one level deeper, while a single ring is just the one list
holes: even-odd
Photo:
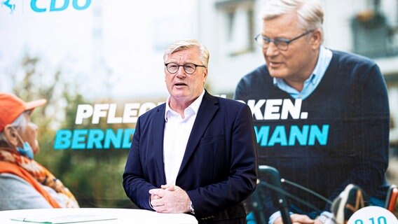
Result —
[{"label": "dark blue blazer worn open over a white shirt by standing man", "polygon": [[[166,183],[165,104],[137,120],[123,174],[125,193],[149,209],[149,190]],[[249,106],[205,92],[176,185],[186,190],[198,220],[245,217],[242,201],[256,187],[256,139]],[[210,220],[209,220],[210,219]]]}]

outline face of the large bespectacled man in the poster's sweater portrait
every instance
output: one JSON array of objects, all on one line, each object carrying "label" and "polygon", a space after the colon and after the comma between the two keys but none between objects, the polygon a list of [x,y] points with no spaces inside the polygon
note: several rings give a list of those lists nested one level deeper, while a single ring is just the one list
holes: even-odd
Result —
[{"label": "face of the large bespectacled man in the poster's sweater portrait", "polygon": [[[306,31],[297,27],[297,20],[295,12],[265,20],[261,34],[271,39],[291,40]],[[319,31],[317,35],[320,35]],[[313,36],[314,34],[310,33],[289,43],[287,50],[279,50],[273,42],[268,48],[263,48],[270,76],[283,78],[288,84],[306,80],[315,68],[320,46],[320,41],[317,41],[317,38],[314,41]]]}]

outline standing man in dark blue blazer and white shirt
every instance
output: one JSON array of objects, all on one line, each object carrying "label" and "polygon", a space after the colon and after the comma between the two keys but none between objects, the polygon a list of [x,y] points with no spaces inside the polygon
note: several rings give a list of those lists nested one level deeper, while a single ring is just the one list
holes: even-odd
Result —
[{"label": "standing man in dark blue blazer and white shirt", "polygon": [[163,59],[170,97],[138,118],[125,193],[142,209],[246,223],[242,201],[257,172],[252,112],[205,90],[209,52],[198,41],[172,43]]}]

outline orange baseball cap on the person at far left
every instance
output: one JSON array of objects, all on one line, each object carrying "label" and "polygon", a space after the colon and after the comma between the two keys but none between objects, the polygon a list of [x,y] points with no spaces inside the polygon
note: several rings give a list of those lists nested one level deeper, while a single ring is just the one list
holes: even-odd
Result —
[{"label": "orange baseball cap on the person at far left", "polygon": [[13,123],[24,111],[31,111],[46,102],[46,99],[24,102],[14,94],[0,92],[0,132],[3,132],[4,127]]}]

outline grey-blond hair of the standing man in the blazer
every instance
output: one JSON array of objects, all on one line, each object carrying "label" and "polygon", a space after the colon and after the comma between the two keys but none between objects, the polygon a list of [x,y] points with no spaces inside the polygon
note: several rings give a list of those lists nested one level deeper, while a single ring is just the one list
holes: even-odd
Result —
[{"label": "grey-blond hair of the standing man in the blazer", "polygon": [[175,41],[174,43],[170,44],[167,47],[167,49],[165,50],[165,54],[163,55],[163,61],[166,62],[167,57],[172,55],[172,53],[174,53],[174,52],[177,52],[179,50],[186,50],[186,49],[192,48],[192,47],[199,49],[200,62],[202,62],[202,64],[207,67],[207,65],[209,64],[209,58],[210,58],[209,50],[207,50],[205,45],[203,45],[202,43],[199,43],[199,41],[196,41],[195,39],[182,39],[182,40]]}]

